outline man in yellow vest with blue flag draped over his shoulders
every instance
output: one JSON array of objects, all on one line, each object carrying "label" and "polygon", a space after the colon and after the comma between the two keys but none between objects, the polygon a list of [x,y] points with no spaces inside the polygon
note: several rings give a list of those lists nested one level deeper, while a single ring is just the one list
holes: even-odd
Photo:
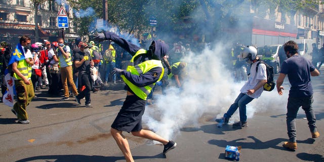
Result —
[{"label": "man in yellow vest with blue flag draped over his shoulders", "polygon": [[20,37],[20,43],[16,46],[8,63],[8,68],[11,68],[12,72],[14,72],[17,93],[17,102],[11,111],[17,116],[18,122],[21,124],[29,124],[26,108],[35,96],[31,83],[31,66],[34,61],[30,49],[28,49],[30,40],[27,35]]}]

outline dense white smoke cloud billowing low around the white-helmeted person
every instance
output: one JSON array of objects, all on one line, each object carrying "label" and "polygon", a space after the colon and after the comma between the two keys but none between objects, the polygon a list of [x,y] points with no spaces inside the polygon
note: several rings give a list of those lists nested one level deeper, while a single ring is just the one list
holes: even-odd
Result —
[{"label": "dense white smoke cloud billowing low around the white-helmeted person", "polygon": [[[173,139],[179,135],[181,128],[188,124],[196,125],[205,113],[215,117],[223,116],[245,82],[234,82],[232,71],[220,59],[228,53],[222,47],[218,44],[212,50],[206,48],[199,55],[191,53],[185,58],[189,77],[183,84],[183,91],[171,87],[166,96],[155,94],[154,105],[147,106],[143,115],[143,121],[149,129],[164,138]],[[276,89],[263,92],[261,97],[247,105],[248,118],[268,110],[282,110],[284,113],[287,96],[288,91],[281,97]],[[234,120],[239,120],[238,109],[230,122]]]}]

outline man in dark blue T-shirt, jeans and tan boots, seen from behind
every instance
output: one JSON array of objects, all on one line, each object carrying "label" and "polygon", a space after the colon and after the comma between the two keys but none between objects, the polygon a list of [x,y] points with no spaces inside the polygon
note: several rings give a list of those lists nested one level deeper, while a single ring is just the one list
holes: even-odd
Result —
[{"label": "man in dark blue T-shirt, jeans and tan boots, seen from behind", "polygon": [[284,45],[287,60],[281,65],[281,71],[277,79],[277,91],[282,95],[282,83],[288,75],[291,88],[287,104],[287,130],[289,142],[282,146],[290,149],[297,149],[296,142],[296,123],[295,119],[299,107],[306,113],[308,127],[312,138],[318,138],[319,133],[316,130],[316,118],[312,109],[313,88],[310,76],[318,76],[319,71],[305,57],[298,55],[298,45],[294,41],[288,41]]}]

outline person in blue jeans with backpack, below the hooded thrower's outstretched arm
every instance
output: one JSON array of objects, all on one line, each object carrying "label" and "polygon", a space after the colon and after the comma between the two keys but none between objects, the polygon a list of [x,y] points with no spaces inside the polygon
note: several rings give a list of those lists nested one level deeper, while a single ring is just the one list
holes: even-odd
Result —
[{"label": "person in blue jeans with backpack, below the hooded thrower's outstretched arm", "polygon": [[110,75],[113,68],[116,67],[115,57],[116,57],[116,51],[112,45],[109,45],[108,50],[105,51],[105,54],[103,56],[103,59],[106,64],[106,75],[105,75],[105,80],[104,80],[105,84],[108,83],[109,76],[110,76],[110,82],[116,83],[116,74]]}]

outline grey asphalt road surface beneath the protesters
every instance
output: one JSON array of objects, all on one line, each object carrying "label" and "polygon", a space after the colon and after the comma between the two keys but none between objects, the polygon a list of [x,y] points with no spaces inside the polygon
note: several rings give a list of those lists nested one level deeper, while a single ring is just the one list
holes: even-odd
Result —
[{"label": "grey asphalt road surface beneath the protesters", "polygon": [[[300,110],[296,151],[282,147],[288,139],[286,110],[275,107],[256,112],[248,119],[249,127],[241,130],[232,129],[231,125],[217,128],[217,114],[204,113],[198,123],[180,128],[180,134],[173,139],[177,147],[166,155],[161,153],[163,146],[159,144],[128,133],[125,136],[135,161],[228,161],[224,158],[226,145],[242,146],[240,161],[324,161],[323,79],[322,74],[312,77],[313,106],[321,136],[311,138]],[[94,108],[77,105],[72,98],[59,101],[61,96],[49,96],[46,89],[36,95],[39,99],[27,107],[28,125],[15,123],[11,108],[0,103],[0,161],[125,161],[109,132],[126,97],[123,83],[92,93]]]}]

